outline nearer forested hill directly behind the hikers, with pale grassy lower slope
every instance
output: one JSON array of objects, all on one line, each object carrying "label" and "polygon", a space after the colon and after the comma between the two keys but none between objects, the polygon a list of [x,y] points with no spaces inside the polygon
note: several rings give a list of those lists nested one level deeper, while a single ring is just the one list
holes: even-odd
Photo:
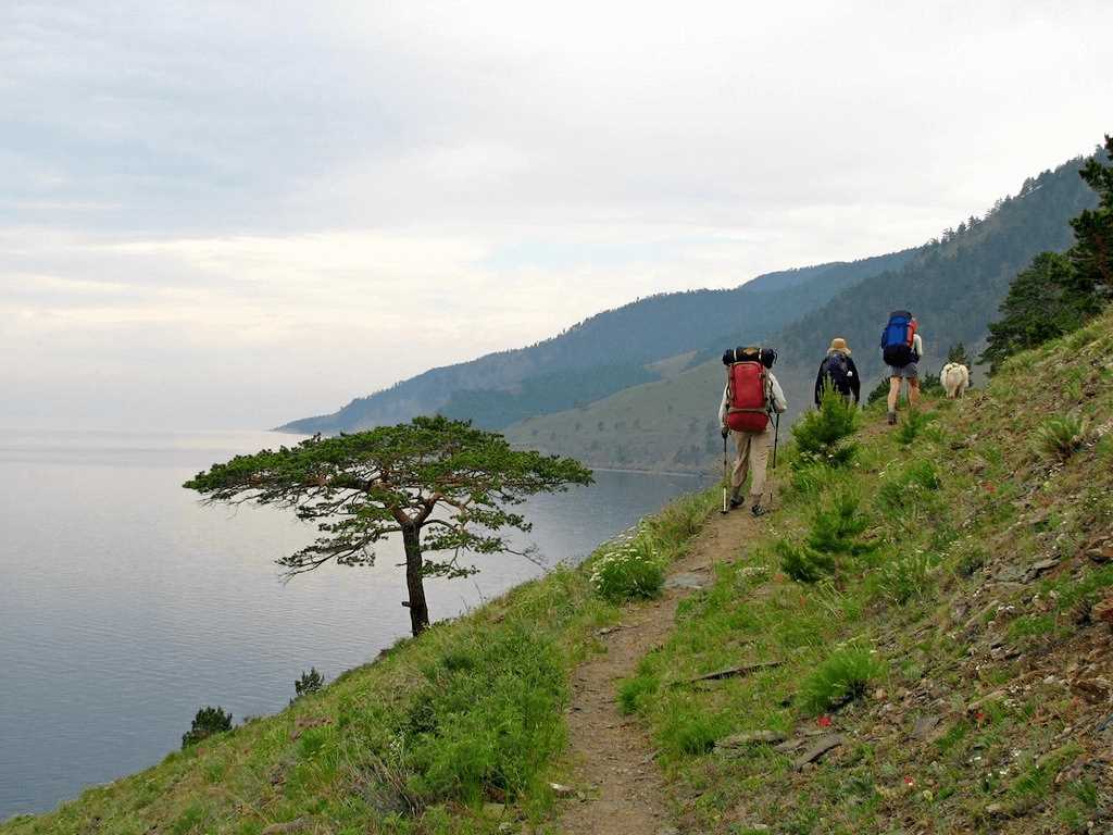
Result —
[{"label": "nearer forested hill directly behind the hikers, with pale grassy lower slope", "polygon": [[[924,374],[937,374],[949,345],[977,350],[1017,272],[1045,249],[1070,246],[1070,218],[1096,205],[1078,177],[1081,159],[1025,180],[985,218],[963,222],[899,268],[864,277],[823,305],[777,328],[767,344],[780,352],[775,372],[791,419],[811,404],[816,370],[831,337],[845,337],[864,377],[863,396],[881,377],[878,340],[889,311],[919,320]],[[739,328],[721,347],[757,337]],[[515,443],[575,455],[597,466],[700,471],[719,465],[715,411],[723,371],[715,352],[664,381],[617,392],[583,409],[524,420],[506,429]]]}]

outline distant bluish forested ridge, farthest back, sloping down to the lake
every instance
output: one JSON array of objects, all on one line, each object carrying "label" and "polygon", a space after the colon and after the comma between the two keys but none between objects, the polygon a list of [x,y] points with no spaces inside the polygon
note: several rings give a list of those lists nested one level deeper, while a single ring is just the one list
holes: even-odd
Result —
[{"label": "distant bluish forested ridge, farthest back, sloping down to the lake", "polygon": [[[863,278],[897,268],[908,249],[853,263],[769,273],[733,289],[668,293],[592,316],[544,342],[433,369],[327,415],[280,430],[338,432],[406,421],[436,411],[501,428],[555,412],[682,367],[680,355],[729,334],[754,338],[829,301]],[[695,354],[693,354],[695,355]],[[662,367],[647,369],[678,357]],[[539,396],[540,393],[540,396]]]}]

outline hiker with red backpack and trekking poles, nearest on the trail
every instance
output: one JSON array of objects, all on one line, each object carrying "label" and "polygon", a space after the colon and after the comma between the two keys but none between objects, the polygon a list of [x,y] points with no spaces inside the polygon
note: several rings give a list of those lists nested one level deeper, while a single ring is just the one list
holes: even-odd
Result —
[{"label": "hiker with red backpack and trekking poles, nearest on the trail", "polygon": [[738,458],[730,474],[730,508],[742,504],[742,485],[752,470],[749,503],[756,517],[766,512],[761,494],[774,441],[770,412],[781,414],[788,409],[780,383],[769,371],[776,361],[776,351],[756,347],[735,348],[722,357],[727,366],[727,385],[719,404],[719,425],[723,443],[733,434],[738,445]]}]

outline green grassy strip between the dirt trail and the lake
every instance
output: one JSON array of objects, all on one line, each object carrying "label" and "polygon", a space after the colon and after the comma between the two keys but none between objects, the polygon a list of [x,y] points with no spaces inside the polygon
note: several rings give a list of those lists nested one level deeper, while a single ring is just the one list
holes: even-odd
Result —
[{"label": "green grassy strip between the dirt trail and the lake", "polygon": [[[712,503],[678,500],[642,523],[643,536],[676,557]],[[593,596],[590,564],[435,625],[280,714],[0,833],[257,835],[285,822],[301,822],[289,832],[489,833],[542,819],[548,780],[562,776],[569,670],[619,612]]]}]

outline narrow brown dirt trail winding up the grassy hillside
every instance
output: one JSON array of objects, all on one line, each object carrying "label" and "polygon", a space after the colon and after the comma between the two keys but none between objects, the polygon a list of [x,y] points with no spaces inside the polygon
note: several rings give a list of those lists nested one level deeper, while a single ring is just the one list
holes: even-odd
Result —
[{"label": "narrow brown dirt trail winding up the grassy hillside", "polygon": [[688,554],[670,569],[664,595],[630,607],[621,626],[603,635],[607,651],[590,658],[572,677],[569,741],[577,767],[575,786],[587,800],[569,802],[560,819],[568,835],[656,835],[674,832],[668,790],[653,762],[650,739],[634,717],[615,704],[615,681],[631,675],[638,661],[664,642],[677,605],[701,584],[710,584],[712,566],[733,559],[761,524],[745,509],[716,513]]}]

